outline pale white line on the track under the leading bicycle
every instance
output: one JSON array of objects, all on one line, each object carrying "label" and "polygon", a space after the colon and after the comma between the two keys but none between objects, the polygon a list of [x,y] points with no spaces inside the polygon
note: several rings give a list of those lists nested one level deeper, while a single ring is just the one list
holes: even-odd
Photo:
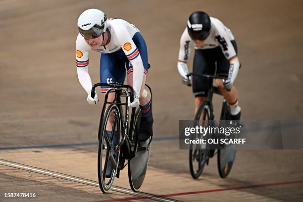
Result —
[{"label": "pale white line on the track under the leading bicycle", "polygon": [[[19,163],[14,163],[14,162],[3,160],[3,159],[0,159],[0,164],[99,187],[99,183],[96,183],[96,182],[91,181],[91,180],[81,179],[81,178],[78,178],[78,177],[68,176],[68,175],[65,175],[65,174],[57,174],[55,172],[46,171],[46,170],[43,170],[43,169],[31,167],[31,166],[25,166],[25,165],[22,165],[22,164],[19,164]],[[152,200],[155,200],[155,201],[176,202],[176,201],[167,200],[165,198],[154,197],[152,195],[145,195],[145,194],[136,193],[136,192],[132,192],[132,191],[124,190],[124,189],[119,189],[119,188],[116,188],[114,186],[111,189],[113,191],[118,191],[118,192],[122,192],[122,193],[125,193],[125,194],[135,195],[135,196],[142,197],[142,198],[152,199]]]}]

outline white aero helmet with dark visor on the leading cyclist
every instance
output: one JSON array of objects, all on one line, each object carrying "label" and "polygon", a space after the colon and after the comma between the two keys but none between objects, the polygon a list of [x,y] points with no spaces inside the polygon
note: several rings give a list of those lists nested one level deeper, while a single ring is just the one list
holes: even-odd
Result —
[{"label": "white aero helmet with dark visor on the leading cyclist", "polygon": [[98,9],[92,8],[84,11],[78,18],[79,33],[85,39],[94,39],[106,31],[106,15]]}]

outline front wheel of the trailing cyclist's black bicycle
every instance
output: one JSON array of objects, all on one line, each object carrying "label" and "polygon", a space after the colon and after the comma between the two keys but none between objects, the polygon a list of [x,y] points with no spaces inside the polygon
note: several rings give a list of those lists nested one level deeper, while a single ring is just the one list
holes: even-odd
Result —
[{"label": "front wheel of the trailing cyclist's black bicycle", "polygon": [[[209,117],[211,116],[211,106],[208,101],[203,101],[195,115],[195,120],[198,120],[200,126],[206,127],[208,125]],[[192,134],[191,140],[200,139],[201,134]],[[194,179],[199,178],[202,174],[205,163],[208,161],[208,153],[206,145],[190,145],[189,164],[191,175]]]}]

